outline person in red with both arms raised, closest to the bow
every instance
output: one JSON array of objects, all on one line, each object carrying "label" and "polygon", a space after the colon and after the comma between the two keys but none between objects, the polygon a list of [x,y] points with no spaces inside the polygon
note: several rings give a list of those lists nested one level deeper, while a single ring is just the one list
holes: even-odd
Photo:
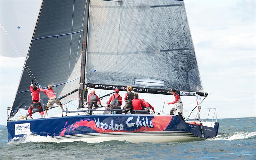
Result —
[{"label": "person in red with both arms raised, closest to the bow", "polygon": [[32,110],[34,108],[37,108],[41,117],[44,117],[44,111],[43,111],[43,108],[42,108],[41,103],[40,103],[40,94],[39,94],[40,90],[36,86],[36,84],[34,83],[33,80],[30,84],[29,89],[31,91],[31,97],[32,97],[32,101],[33,101],[32,104],[30,105],[30,107],[28,108],[29,118],[32,119]]}]

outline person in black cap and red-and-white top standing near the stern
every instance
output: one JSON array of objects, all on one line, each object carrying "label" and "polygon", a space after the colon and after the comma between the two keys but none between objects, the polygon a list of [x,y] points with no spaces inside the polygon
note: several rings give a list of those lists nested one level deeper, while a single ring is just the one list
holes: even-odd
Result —
[{"label": "person in black cap and red-and-white top standing near the stern", "polygon": [[180,118],[185,122],[184,116],[182,114],[183,113],[183,104],[182,104],[182,101],[180,99],[180,95],[176,92],[176,90],[174,88],[172,88],[170,90],[170,92],[173,95],[173,102],[167,102],[167,104],[173,104],[174,105],[174,108],[172,108],[171,111],[170,111],[171,112],[170,115],[174,115],[173,112],[177,110]]}]

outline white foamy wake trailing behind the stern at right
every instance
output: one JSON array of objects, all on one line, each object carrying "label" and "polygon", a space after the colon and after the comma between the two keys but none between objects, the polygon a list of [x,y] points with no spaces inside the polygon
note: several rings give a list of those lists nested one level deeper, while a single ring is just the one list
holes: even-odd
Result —
[{"label": "white foamy wake trailing behind the stern at right", "polygon": [[215,138],[210,138],[207,140],[241,140],[256,136],[255,132],[250,133],[244,133],[244,132],[234,132],[234,133],[228,133],[224,135],[217,135]]}]

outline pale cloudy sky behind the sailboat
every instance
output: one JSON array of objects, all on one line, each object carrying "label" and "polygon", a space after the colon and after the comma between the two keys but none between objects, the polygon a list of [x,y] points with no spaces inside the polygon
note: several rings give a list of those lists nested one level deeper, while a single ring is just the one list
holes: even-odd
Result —
[{"label": "pale cloudy sky behind the sailboat", "polygon": [[[11,9],[14,10],[15,7],[4,10],[7,8],[6,1],[0,0],[0,23],[17,46],[20,55],[26,55],[35,23],[33,20],[36,20],[40,1],[20,0],[15,3],[16,10],[17,7],[27,7],[27,12],[12,15],[16,16],[17,23],[13,23],[11,19],[6,20],[3,18],[5,12],[14,12]],[[202,106],[216,108],[217,118],[255,116],[256,1],[185,0],[184,3],[204,91],[209,92]],[[26,6],[22,6],[25,4]],[[22,20],[24,17],[26,20]],[[15,40],[12,38],[12,31],[14,34],[21,32],[17,28],[20,24],[24,26],[20,26],[20,29],[29,28],[24,31],[28,34],[20,33],[21,40]],[[17,54],[6,38],[3,28],[0,31],[1,55],[4,46],[5,50],[10,49],[10,54]],[[24,61],[24,57],[0,56],[0,124],[2,125],[6,124],[6,106],[11,106],[14,101]],[[104,93],[96,90],[98,96],[103,96]],[[125,92],[120,92],[123,98],[124,94]],[[162,110],[164,100],[172,100],[168,95],[139,93],[139,97],[150,102],[157,112]],[[181,99],[186,117],[196,104],[195,98],[182,96]],[[165,106],[164,113],[169,113],[170,108]]]}]

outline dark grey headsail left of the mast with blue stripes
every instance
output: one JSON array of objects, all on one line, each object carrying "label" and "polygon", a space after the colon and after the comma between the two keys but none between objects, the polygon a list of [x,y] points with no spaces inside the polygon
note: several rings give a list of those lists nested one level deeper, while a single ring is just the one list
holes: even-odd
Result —
[{"label": "dark grey headsail left of the mast with blue stripes", "polygon": [[[52,84],[59,97],[79,88],[84,11],[85,0],[43,1],[12,105],[14,115],[32,102],[31,78],[43,87]],[[47,103],[44,92],[40,98],[42,105]],[[61,101],[65,104],[77,98],[76,92]]]}]

